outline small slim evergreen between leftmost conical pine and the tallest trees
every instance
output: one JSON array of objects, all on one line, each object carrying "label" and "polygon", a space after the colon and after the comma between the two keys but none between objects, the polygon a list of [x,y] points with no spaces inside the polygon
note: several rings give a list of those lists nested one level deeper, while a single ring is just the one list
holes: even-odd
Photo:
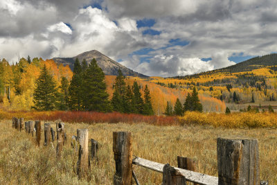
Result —
[{"label": "small slim evergreen between leftmost conical pine and the tallest trees", "polygon": [[69,80],[64,76],[60,85],[59,109],[67,111],[69,109]]}]

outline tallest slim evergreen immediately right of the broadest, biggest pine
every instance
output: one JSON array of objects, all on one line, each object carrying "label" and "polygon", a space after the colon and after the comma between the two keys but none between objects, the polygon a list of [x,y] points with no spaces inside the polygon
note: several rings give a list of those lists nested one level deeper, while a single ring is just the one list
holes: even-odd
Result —
[{"label": "tallest slim evergreen immediately right of the broadest, biggest pine", "polygon": [[125,76],[120,69],[118,69],[118,76],[116,76],[116,83],[114,85],[114,94],[111,98],[111,105],[114,111],[125,112],[125,94],[126,94],[126,83]]}]

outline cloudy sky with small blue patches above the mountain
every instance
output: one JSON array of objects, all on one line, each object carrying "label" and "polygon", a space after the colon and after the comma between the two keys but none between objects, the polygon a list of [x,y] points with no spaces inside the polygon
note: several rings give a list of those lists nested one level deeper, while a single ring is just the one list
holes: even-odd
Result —
[{"label": "cloudy sky with small blue patches above the mountain", "polygon": [[276,0],[1,0],[0,59],[93,49],[148,76],[185,76],[277,51]]}]

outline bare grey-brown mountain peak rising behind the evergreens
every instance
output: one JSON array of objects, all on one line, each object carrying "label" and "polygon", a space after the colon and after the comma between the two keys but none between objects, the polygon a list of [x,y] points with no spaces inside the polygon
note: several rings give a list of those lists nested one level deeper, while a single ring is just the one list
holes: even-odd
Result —
[{"label": "bare grey-brown mountain peak rising behind the evergreens", "polygon": [[53,60],[57,62],[57,64],[68,64],[71,70],[73,70],[76,58],[78,58],[80,62],[82,62],[82,60],[85,59],[88,64],[89,62],[91,62],[93,58],[95,58],[98,66],[104,71],[105,75],[117,76],[118,69],[120,69],[124,76],[138,76],[141,78],[148,78],[148,76],[145,76],[141,73],[137,73],[132,69],[128,69],[127,67],[119,64],[111,58],[108,58],[106,55],[103,55],[102,53],[96,50],[81,53],[73,58],[53,58]]}]

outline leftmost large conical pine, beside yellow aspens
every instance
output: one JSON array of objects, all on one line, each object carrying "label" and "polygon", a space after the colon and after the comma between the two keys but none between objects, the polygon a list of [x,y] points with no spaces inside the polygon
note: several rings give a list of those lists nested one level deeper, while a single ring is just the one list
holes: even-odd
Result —
[{"label": "leftmost large conical pine, beside yellow aspens", "polygon": [[57,89],[53,76],[48,73],[45,65],[35,83],[37,87],[34,92],[34,108],[39,111],[55,109]]}]

